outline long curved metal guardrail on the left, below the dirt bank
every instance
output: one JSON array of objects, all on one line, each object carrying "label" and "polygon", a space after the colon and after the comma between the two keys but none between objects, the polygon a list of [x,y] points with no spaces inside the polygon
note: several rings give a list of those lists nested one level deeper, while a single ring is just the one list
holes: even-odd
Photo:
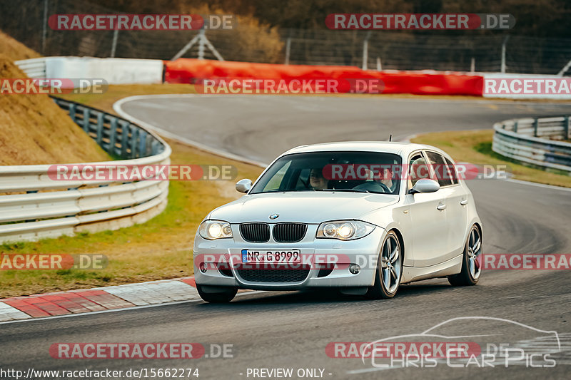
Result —
[{"label": "long curved metal guardrail on the left, below the dirt bank", "polygon": [[[103,150],[121,159],[89,165],[170,163],[171,147],[152,131],[79,103],[54,101]],[[166,207],[168,180],[53,180],[50,166],[0,166],[0,242],[116,230],[146,222]]]}]

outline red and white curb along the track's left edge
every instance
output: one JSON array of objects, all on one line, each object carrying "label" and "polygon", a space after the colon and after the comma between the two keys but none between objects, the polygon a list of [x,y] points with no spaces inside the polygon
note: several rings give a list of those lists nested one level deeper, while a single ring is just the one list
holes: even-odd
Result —
[{"label": "red and white curb along the track's left edge", "polygon": [[0,299],[0,322],[200,300],[194,277]]}]

